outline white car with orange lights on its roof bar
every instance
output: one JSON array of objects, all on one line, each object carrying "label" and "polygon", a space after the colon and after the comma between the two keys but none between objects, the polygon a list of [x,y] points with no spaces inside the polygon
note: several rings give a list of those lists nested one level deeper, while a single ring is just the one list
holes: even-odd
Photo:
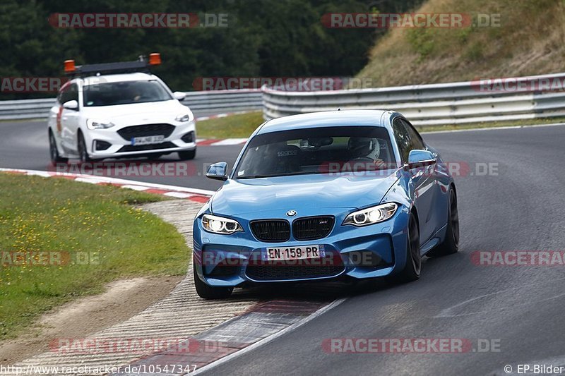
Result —
[{"label": "white car with orange lights on its roof bar", "polygon": [[195,157],[194,115],[179,102],[185,95],[171,92],[157,76],[139,72],[149,65],[155,63],[75,67],[74,61],[65,62],[66,73],[76,77],[61,87],[49,114],[53,163],[172,152],[181,159]]}]

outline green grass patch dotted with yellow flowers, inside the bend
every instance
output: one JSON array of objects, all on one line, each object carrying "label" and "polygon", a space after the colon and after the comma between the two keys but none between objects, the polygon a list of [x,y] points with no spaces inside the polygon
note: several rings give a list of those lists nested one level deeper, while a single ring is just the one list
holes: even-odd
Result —
[{"label": "green grass patch dotted with yellow flowers, inside the bend", "polygon": [[[186,272],[190,250],[184,238],[171,224],[131,206],[165,198],[4,173],[0,192],[0,339],[25,331],[57,305],[102,292],[109,281]],[[63,255],[64,265],[14,265],[16,252],[48,251]],[[79,255],[87,256],[86,265],[76,262]]]}]

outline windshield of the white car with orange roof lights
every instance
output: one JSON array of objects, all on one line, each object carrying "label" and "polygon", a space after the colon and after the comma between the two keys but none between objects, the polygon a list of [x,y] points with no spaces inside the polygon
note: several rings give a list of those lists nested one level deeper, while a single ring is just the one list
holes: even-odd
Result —
[{"label": "windshield of the white car with orange roof lights", "polygon": [[84,87],[85,107],[162,102],[171,99],[165,87],[156,80],[99,83]]}]

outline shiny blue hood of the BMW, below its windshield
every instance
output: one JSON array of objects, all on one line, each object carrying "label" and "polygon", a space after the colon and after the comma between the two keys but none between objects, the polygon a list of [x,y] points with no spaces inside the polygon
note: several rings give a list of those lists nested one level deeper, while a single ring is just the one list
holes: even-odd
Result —
[{"label": "shiny blue hood of the BMW, below its windshield", "polygon": [[312,174],[230,179],[211,200],[214,214],[239,216],[272,210],[361,208],[377,205],[398,180],[397,171],[378,175]]}]

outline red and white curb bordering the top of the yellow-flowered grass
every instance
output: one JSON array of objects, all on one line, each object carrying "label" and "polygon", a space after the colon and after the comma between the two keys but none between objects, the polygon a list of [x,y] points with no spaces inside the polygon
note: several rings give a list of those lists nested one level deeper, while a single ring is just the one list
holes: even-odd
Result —
[{"label": "red and white curb bordering the top of the yellow-flowered grass", "polygon": [[145,183],[142,181],[133,181],[120,178],[109,178],[105,176],[93,176],[88,174],[71,174],[63,172],[25,170],[25,169],[4,169],[0,168],[0,172],[11,174],[23,174],[42,176],[44,178],[68,178],[83,183],[92,183],[99,186],[117,186],[119,188],[129,188],[139,190],[146,193],[155,193],[157,195],[165,195],[172,198],[183,198],[194,202],[207,202],[214,194],[213,190],[205,190],[198,188],[185,188],[178,186],[167,186],[165,184]]}]

